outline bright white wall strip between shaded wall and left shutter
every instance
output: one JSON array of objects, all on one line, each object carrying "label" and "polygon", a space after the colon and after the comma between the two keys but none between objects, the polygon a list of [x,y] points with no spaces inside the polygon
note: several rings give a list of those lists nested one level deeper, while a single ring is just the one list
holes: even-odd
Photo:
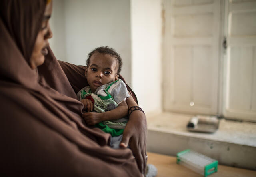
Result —
[{"label": "bright white wall strip between shaded wall and left shutter", "polygon": [[147,114],[162,111],[161,0],[131,0],[132,88]]}]

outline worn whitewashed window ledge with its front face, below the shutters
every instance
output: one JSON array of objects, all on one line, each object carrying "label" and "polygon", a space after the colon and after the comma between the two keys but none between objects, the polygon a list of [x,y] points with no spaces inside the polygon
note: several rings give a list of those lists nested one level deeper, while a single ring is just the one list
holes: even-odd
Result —
[{"label": "worn whitewashed window ledge with its front face, below the shutters", "polygon": [[256,170],[256,123],[220,120],[215,133],[189,132],[192,115],[160,113],[147,115],[148,151],[176,155],[193,149],[220,164]]}]

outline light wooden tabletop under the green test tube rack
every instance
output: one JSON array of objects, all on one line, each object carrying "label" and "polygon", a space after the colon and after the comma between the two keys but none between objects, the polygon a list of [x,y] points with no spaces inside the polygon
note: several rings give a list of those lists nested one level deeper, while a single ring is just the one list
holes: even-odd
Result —
[{"label": "light wooden tabletop under the green test tube rack", "polygon": [[[156,177],[202,177],[182,165],[176,163],[176,157],[148,152],[148,163],[158,169]],[[256,171],[218,165],[218,171],[209,177],[255,177]]]}]

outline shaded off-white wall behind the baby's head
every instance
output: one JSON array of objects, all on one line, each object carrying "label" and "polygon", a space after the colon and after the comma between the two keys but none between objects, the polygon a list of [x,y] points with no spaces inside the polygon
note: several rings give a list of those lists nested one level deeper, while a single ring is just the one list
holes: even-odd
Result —
[{"label": "shaded off-white wall behind the baby's head", "polygon": [[122,57],[121,74],[131,83],[129,0],[54,0],[50,25],[58,59],[84,65],[92,49],[110,46]]}]

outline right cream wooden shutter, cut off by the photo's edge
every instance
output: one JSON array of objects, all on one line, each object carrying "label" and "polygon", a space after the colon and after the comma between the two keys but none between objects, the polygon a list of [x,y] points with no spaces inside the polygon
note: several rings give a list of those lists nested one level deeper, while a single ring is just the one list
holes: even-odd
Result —
[{"label": "right cream wooden shutter, cut off by the photo's edge", "polygon": [[256,121],[256,0],[226,1],[225,117]]}]

